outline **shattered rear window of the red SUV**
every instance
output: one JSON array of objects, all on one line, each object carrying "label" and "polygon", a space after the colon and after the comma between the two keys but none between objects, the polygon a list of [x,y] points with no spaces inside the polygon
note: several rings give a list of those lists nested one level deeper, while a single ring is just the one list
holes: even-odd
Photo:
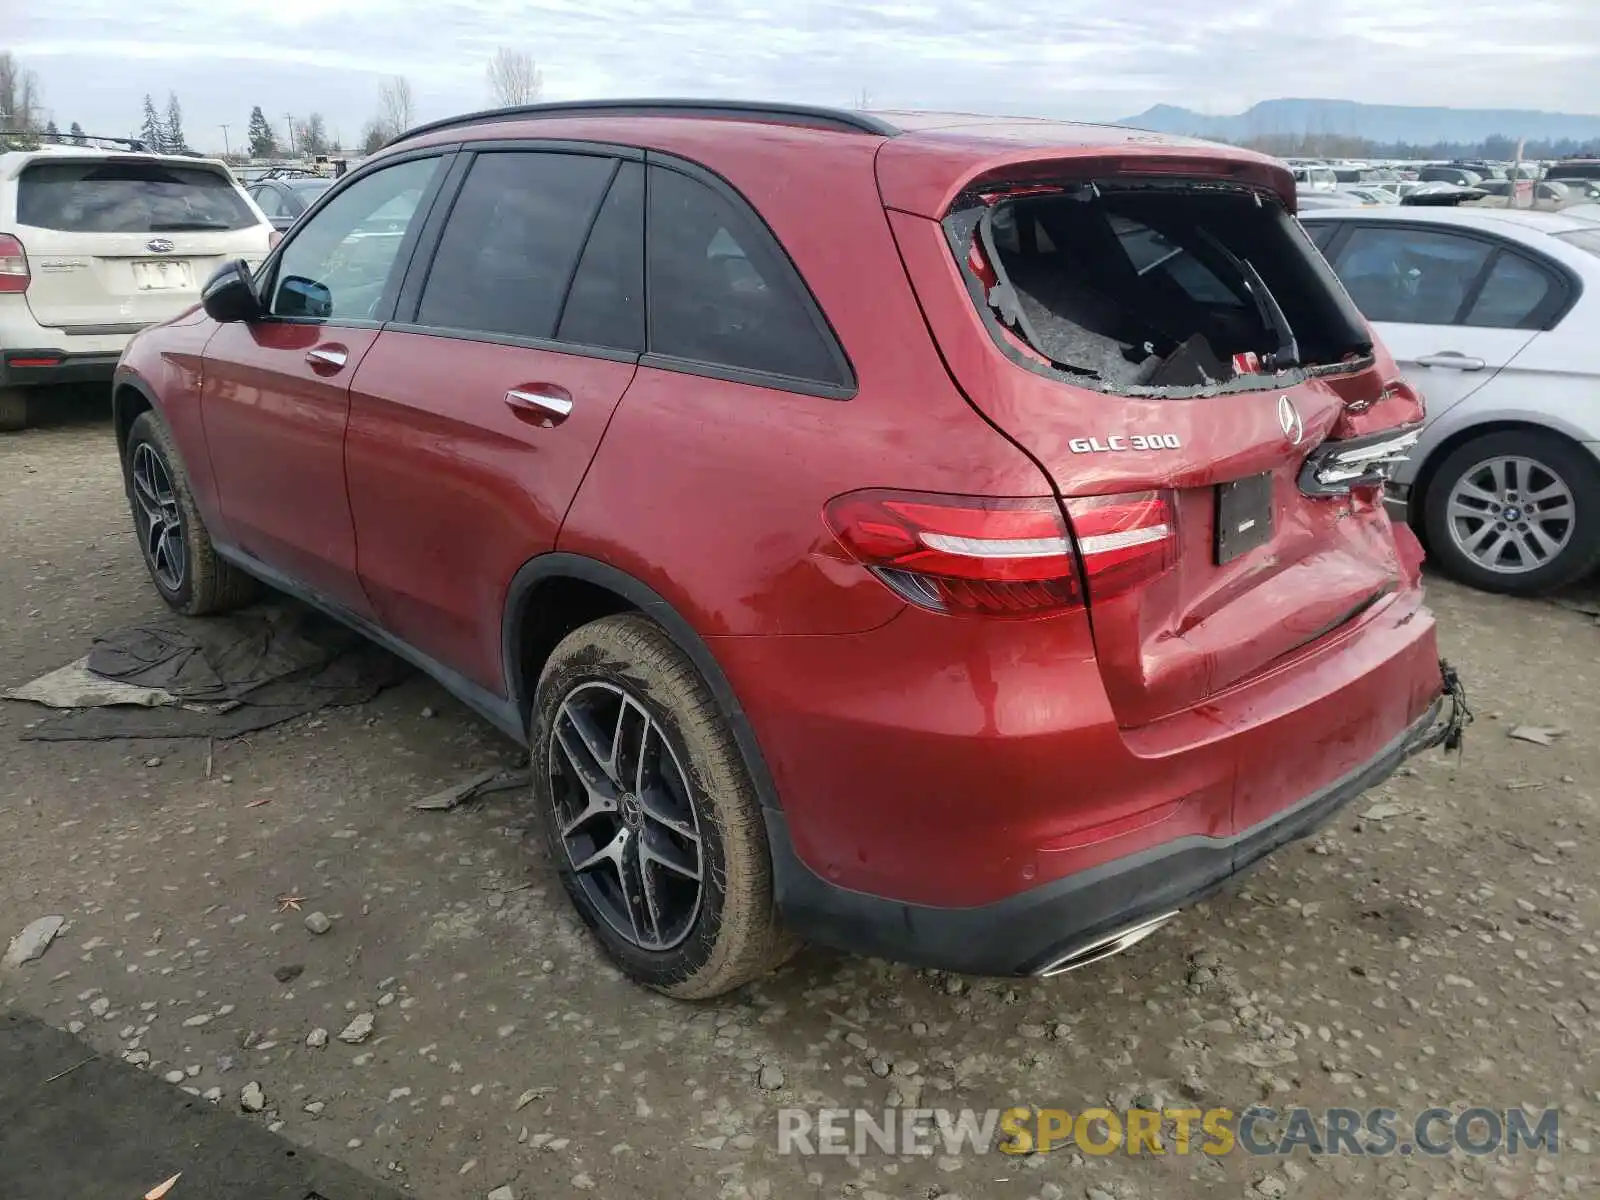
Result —
[{"label": "shattered rear window of the red SUV", "polygon": [[946,232],[1002,347],[1099,390],[1277,386],[1371,352],[1301,226],[1245,187],[1034,187],[973,197]]}]

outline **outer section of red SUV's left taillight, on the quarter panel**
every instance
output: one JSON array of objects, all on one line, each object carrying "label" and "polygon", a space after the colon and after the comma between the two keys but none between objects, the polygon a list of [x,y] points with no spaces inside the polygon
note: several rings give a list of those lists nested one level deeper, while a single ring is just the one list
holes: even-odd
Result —
[{"label": "outer section of red SUV's left taillight, on the quarter panel", "polygon": [[826,517],[853,558],[923,608],[1026,618],[1082,605],[1053,498],[869,490],[829,501]]}]

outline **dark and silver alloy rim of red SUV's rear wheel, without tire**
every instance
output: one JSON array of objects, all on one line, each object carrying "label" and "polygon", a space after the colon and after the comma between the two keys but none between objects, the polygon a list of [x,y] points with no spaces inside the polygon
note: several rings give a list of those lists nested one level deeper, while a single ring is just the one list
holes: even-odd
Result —
[{"label": "dark and silver alloy rim of red SUV's rear wheel, without tire", "polygon": [[573,688],[549,739],[555,834],[611,930],[670,950],[694,928],[704,891],[699,818],[661,725],[613,683]]}]

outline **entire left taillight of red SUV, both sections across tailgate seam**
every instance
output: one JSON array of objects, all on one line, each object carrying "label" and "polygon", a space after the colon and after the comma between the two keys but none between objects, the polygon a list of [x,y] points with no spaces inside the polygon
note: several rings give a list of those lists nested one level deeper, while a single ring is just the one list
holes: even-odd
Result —
[{"label": "entire left taillight of red SUV, both sections across tailgate seam", "polygon": [[[1178,534],[1162,493],[1067,501],[869,490],[827,504],[827,525],[856,562],[906,600],[941,613],[1048,616],[1157,578]],[[1077,550],[1074,550],[1074,534]],[[1080,573],[1082,555],[1082,573]]]}]

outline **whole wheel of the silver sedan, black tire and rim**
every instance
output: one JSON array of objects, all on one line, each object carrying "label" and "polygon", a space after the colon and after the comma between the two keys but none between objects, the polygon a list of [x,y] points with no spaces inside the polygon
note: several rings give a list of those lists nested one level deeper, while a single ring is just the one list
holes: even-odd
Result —
[{"label": "whole wheel of the silver sedan, black tire and rim", "polygon": [[1600,462],[1557,434],[1485,434],[1438,464],[1422,522],[1446,574],[1485,592],[1549,592],[1600,566]]}]

